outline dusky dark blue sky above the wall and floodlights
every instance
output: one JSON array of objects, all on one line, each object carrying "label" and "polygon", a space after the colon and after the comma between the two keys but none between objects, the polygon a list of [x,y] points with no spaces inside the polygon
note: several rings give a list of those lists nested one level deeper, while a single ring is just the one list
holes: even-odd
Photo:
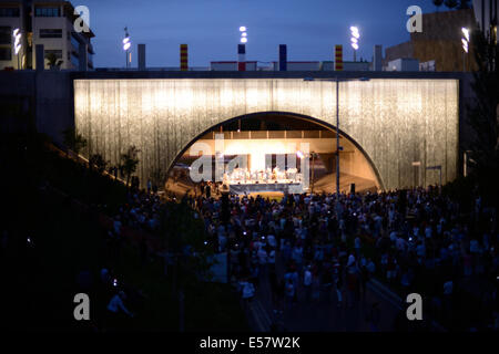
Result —
[{"label": "dusky dark blue sky above the wall and floodlights", "polygon": [[[129,27],[136,65],[136,44],[146,44],[147,66],[177,66],[179,44],[189,44],[191,66],[236,60],[238,27],[246,25],[246,59],[277,60],[287,44],[289,61],[332,60],[334,44],[353,60],[349,27],[360,29],[358,56],[371,59],[373,45],[384,48],[409,39],[411,4],[435,11],[430,0],[77,0],[90,9],[95,32],[96,66],[124,66],[123,28]],[[442,9],[444,10],[444,9]]]}]

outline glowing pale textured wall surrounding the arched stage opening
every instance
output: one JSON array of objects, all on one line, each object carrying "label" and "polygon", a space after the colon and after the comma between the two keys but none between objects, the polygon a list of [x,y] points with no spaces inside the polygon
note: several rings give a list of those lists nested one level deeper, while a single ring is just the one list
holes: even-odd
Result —
[{"label": "glowing pale textured wall surrounding the arched stage opening", "polygon": [[[75,124],[89,146],[116,163],[141,149],[144,181],[166,170],[197,135],[257,112],[336,122],[334,82],[296,79],[75,80]],[[371,80],[339,85],[340,131],[363,147],[386,189],[437,184],[457,176],[458,81]],[[414,167],[420,162],[421,167]]]}]

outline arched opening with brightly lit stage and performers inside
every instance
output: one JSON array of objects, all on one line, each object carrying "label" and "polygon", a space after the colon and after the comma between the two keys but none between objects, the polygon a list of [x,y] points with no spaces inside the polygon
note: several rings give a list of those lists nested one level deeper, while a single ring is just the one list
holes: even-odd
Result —
[{"label": "arched opening with brightly lit stage and performers inside", "polygon": [[342,192],[381,188],[376,168],[361,147],[318,119],[265,112],[234,117],[193,139],[171,165],[165,191],[177,196],[230,191],[279,196],[335,192],[339,155]]}]

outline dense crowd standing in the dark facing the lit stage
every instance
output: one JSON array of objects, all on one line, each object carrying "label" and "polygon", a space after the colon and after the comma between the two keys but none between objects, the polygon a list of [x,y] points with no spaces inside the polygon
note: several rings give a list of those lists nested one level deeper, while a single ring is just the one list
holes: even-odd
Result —
[{"label": "dense crowd standing in the dark facing the lit stage", "polygon": [[[499,329],[497,215],[479,197],[466,215],[464,206],[431,187],[340,195],[339,200],[326,194],[287,195],[279,201],[200,196],[193,204],[210,244],[216,252],[230,251],[231,275],[246,302],[265,279],[276,313],[298,299],[324,296],[354,306],[375,277],[400,293],[420,293],[434,317],[452,324],[456,313],[462,314],[458,288],[473,280],[475,288],[490,288],[479,291],[480,306],[462,325]],[[377,304],[373,310],[379,312]]]}]

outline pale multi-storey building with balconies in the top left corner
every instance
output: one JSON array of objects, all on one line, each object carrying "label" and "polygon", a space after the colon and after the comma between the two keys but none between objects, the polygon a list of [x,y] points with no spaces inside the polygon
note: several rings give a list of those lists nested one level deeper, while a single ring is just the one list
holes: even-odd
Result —
[{"label": "pale multi-storey building with balconies in the top left corner", "polygon": [[[88,70],[93,70],[94,33],[77,32],[74,7],[61,0],[0,0],[0,70],[35,69],[34,48],[43,44],[45,69],[78,70],[80,44],[86,46]],[[16,54],[14,30],[20,50]],[[53,65],[55,64],[55,65]]]}]

